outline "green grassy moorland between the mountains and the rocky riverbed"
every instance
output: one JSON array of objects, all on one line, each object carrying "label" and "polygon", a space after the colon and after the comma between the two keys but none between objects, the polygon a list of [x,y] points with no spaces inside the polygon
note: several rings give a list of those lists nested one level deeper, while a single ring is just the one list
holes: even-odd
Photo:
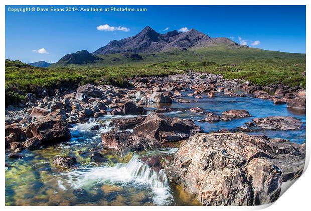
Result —
[{"label": "green grassy moorland between the mountains and the rocky riverbed", "polygon": [[[38,87],[74,87],[78,84],[128,86],[123,79],[133,76],[165,76],[188,70],[243,78],[258,85],[282,83],[305,87],[305,54],[265,51],[245,47],[208,47],[188,51],[139,54],[132,60],[121,54],[101,55],[102,61],[84,65],[51,65],[37,68],[6,60],[6,91],[15,98]],[[12,95],[12,94],[11,94]],[[7,98],[7,97],[6,97]]]}]

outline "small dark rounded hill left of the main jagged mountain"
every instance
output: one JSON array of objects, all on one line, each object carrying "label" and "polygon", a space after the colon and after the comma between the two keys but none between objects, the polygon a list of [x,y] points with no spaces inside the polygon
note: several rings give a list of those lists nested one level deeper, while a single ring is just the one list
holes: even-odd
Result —
[{"label": "small dark rounded hill left of the main jagged mountain", "polygon": [[98,60],[103,60],[91,53],[87,50],[77,51],[76,53],[71,53],[63,56],[58,62],[55,64],[67,65],[67,64],[86,64],[96,62]]}]

